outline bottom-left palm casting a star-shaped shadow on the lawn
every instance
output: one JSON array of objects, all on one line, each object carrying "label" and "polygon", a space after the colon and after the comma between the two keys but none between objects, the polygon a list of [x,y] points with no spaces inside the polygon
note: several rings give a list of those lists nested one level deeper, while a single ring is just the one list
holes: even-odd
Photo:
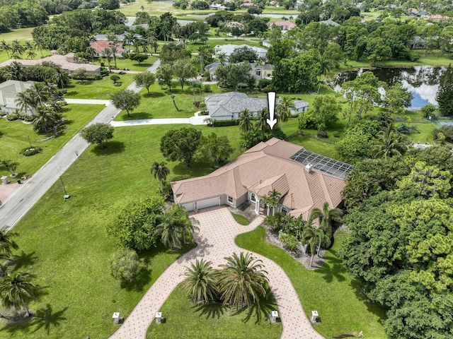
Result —
[{"label": "bottom-left palm casting a star-shaped shadow on the lawn", "polygon": [[14,307],[16,310],[25,309],[27,316],[30,311],[27,307],[28,299],[35,299],[40,287],[30,282],[35,278],[27,272],[8,273],[0,282],[0,297],[4,307]]}]

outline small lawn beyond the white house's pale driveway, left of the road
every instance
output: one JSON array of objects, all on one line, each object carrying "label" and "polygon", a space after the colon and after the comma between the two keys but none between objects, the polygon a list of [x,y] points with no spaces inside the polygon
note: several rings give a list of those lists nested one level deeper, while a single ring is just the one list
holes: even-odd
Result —
[{"label": "small lawn beyond the white house's pale driveway, left of the road", "polygon": [[134,74],[120,75],[120,81],[118,81],[118,83],[121,83],[120,86],[115,86],[113,81],[110,80],[110,76],[104,76],[101,80],[84,81],[84,83],[73,80],[71,85],[67,87],[67,94],[64,97],[108,100],[110,94],[118,90],[125,90],[132,81],[134,81]]}]

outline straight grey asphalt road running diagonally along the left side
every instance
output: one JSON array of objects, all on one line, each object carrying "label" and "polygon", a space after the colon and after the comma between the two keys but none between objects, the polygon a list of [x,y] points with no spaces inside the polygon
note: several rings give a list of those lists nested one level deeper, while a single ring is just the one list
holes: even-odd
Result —
[{"label": "straight grey asphalt road running diagonally along the left side", "polygon": [[[153,66],[151,66],[153,67]],[[150,68],[151,68],[150,67]],[[154,66],[153,69],[156,69]],[[137,88],[135,83],[127,87],[130,90],[138,92],[141,88]],[[120,112],[113,105],[107,105],[92,121],[86,126],[103,122],[110,123]],[[18,189],[2,206],[0,206],[0,229],[11,230],[16,223],[21,220],[23,215],[35,205],[41,196],[50,189],[59,177],[71,166],[76,160],[76,153],[79,155],[88,148],[88,143],[81,138],[79,133],[71,138],[48,162],[42,166],[38,172],[33,174],[33,177],[28,179],[25,184]],[[64,177],[63,177],[64,179]],[[63,180],[64,181],[64,180]],[[71,192],[68,192],[69,194]],[[63,202],[64,191],[62,188],[61,198]]]}]

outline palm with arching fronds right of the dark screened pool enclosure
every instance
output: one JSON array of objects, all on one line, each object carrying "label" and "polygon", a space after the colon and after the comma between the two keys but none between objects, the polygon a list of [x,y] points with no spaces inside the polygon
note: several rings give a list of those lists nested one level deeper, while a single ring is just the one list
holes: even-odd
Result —
[{"label": "palm with arching fronds right of the dark screened pool enclosure", "polygon": [[387,158],[404,155],[407,151],[403,134],[394,129],[390,124],[384,131],[379,132],[379,141],[374,145],[374,157]]}]

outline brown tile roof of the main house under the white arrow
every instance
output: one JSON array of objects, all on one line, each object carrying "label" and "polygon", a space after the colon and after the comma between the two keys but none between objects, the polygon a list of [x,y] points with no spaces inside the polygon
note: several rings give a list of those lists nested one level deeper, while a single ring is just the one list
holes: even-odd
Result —
[{"label": "brown tile roof of the main house under the white arrow", "polygon": [[276,189],[280,203],[291,208],[294,216],[307,218],[313,208],[322,208],[328,201],[333,208],[341,202],[343,179],[312,169],[289,157],[302,146],[272,138],[247,150],[205,177],[172,182],[171,187],[178,203],[190,203],[227,194],[239,198],[248,190],[258,196]]}]

